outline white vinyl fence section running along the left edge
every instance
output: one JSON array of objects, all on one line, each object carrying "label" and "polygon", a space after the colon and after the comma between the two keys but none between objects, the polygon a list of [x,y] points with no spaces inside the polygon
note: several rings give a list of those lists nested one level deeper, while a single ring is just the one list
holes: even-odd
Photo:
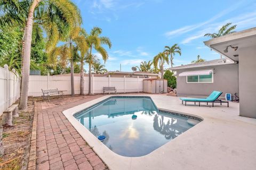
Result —
[{"label": "white vinyl fence section running along the left edge", "polygon": [[20,78],[8,70],[8,66],[0,67],[0,115],[20,97]]}]

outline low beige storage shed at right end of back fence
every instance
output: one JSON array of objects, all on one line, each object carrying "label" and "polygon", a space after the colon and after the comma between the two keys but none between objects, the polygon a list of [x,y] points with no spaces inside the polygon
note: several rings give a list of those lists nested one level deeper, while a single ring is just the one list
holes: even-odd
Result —
[{"label": "low beige storage shed at right end of back fence", "polygon": [[167,80],[145,79],[143,80],[143,92],[150,94],[162,94],[167,92]]}]

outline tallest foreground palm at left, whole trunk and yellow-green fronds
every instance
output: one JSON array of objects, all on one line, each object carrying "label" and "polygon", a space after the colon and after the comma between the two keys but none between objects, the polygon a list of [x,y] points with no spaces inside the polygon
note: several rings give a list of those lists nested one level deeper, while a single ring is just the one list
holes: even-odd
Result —
[{"label": "tallest foreground palm at left, whole trunk and yellow-green fronds", "polygon": [[24,30],[22,44],[21,92],[19,109],[27,107],[30,52],[33,28],[47,35],[48,45],[55,45],[66,28],[82,23],[77,6],[70,0],[1,1],[1,25],[19,25]]}]

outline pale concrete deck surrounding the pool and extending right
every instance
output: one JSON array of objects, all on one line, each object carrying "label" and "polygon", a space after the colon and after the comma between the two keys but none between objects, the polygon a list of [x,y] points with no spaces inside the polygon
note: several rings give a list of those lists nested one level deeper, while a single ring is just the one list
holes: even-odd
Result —
[{"label": "pale concrete deck surrounding the pool and extending right", "polygon": [[[239,104],[214,107],[189,103],[181,105],[178,97],[149,96],[158,109],[202,117],[204,120],[179,137],[142,157],[115,154],[80,124],[74,113],[106,99],[107,95],[63,111],[77,132],[85,139],[109,169],[254,169],[256,167],[256,119],[241,117]],[[135,96],[135,95],[121,95]],[[256,106],[255,106],[256,107]]]}]

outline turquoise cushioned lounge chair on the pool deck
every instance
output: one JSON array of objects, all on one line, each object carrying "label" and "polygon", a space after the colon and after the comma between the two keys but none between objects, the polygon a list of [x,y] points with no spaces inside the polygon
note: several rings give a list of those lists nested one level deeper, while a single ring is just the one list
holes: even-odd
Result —
[{"label": "turquoise cushioned lounge chair on the pool deck", "polygon": [[[194,102],[195,105],[196,105],[196,102],[198,102],[199,106],[201,102],[205,102],[207,103],[207,105],[208,103],[212,103],[212,107],[213,107],[213,103],[220,103],[220,105],[222,105],[222,103],[228,104],[228,101],[222,101],[218,99],[221,94],[222,94],[221,91],[213,91],[211,95],[208,96],[207,98],[180,98],[180,99],[182,100],[182,105],[183,105],[183,101],[185,101],[185,106],[187,106],[187,101]],[[229,107],[229,104],[228,104],[228,107]]]}]

